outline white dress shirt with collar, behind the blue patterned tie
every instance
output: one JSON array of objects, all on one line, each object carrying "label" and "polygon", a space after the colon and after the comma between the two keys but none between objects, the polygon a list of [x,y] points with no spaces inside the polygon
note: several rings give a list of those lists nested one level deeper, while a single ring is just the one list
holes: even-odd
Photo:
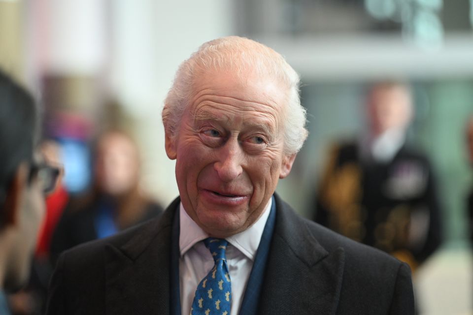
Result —
[{"label": "white dress shirt with collar, behind the blue patterned tie", "polygon": [[[251,268],[260,245],[261,235],[270,215],[272,198],[261,217],[249,228],[226,238],[227,265],[232,281],[232,306],[230,315],[237,315]],[[208,237],[202,228],[197,225],[186,213],[182,203],[179,206],[179,284],[181,294],[181,314],[190,313],[197,286],[214,266],[210,251],[202,240]]]}]

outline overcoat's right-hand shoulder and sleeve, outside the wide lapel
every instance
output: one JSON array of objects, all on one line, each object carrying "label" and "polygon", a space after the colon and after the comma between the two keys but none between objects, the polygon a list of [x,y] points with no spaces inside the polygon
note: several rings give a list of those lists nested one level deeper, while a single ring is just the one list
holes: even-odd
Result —
[{"label": "overcoat's right-hand shoulder and sleeve, outside the wide lapel", "polygon": [[[409,266],[375,248],[350,240],[317,223],[303,219],[328,252],[344,252],[339,314],[414,314]],[[353,313],[354,312],[354,313]]]}]

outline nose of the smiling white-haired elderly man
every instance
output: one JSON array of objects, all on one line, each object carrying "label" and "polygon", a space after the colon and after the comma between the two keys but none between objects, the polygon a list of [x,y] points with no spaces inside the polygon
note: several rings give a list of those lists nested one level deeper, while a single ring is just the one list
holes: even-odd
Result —
[{"label": "nose of the smiling white-haired elderly man", "polygon": [[235,180],[242,172],[241,163],[244,158],[244,152],[241,149],[237,139],[229,139],[227,143],[220,147],[217,153],[217,161],[214,163],[214,169],[223,182]]}]

